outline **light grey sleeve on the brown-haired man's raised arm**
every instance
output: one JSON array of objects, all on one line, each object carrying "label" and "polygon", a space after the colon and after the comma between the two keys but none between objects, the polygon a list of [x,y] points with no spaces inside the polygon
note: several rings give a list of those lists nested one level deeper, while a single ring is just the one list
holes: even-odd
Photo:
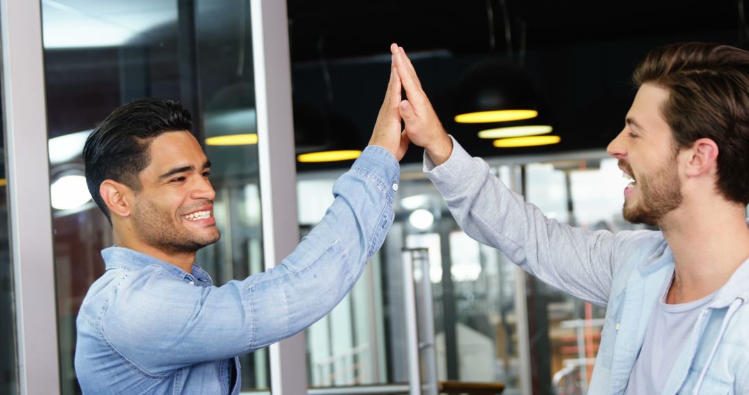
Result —
[{"label": "light grey sleeve on the brown-haired man's raised arm", "polygon": [[636,247],[638,232],[591,232],[546,218],[455,139],[452,156],[440,166],[424,154],[424,171],[468,236],[499,248],[546,284],[594,304],[607,303],[613,275]]}]

